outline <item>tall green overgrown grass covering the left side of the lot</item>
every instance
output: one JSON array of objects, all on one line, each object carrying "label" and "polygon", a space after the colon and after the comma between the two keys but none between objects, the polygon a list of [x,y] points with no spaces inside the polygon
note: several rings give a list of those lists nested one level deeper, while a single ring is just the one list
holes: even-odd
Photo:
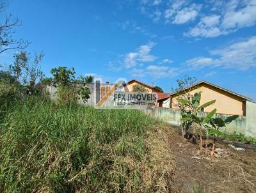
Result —
[{"label": "tall green overgrown grass covering the left side of the lot", "polygon": [[143,112],[37,97],[0,114],[0,192],[141,190],[156,124]]}]

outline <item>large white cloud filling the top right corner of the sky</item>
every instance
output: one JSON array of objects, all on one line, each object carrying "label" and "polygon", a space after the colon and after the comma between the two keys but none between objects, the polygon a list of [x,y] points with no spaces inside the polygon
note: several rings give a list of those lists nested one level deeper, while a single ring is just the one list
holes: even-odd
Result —
[{"label": "large white cloud filling the top right corner of the sky", "polygon": [[226,4],[217,1],[218,8],[224,7],[218,15],[204,16],[195,27],[189,29],[185,36],[216,37],[227,35],[241,27],[253,26],[256,24],[256,1],[255,0],[230,0]]}]

